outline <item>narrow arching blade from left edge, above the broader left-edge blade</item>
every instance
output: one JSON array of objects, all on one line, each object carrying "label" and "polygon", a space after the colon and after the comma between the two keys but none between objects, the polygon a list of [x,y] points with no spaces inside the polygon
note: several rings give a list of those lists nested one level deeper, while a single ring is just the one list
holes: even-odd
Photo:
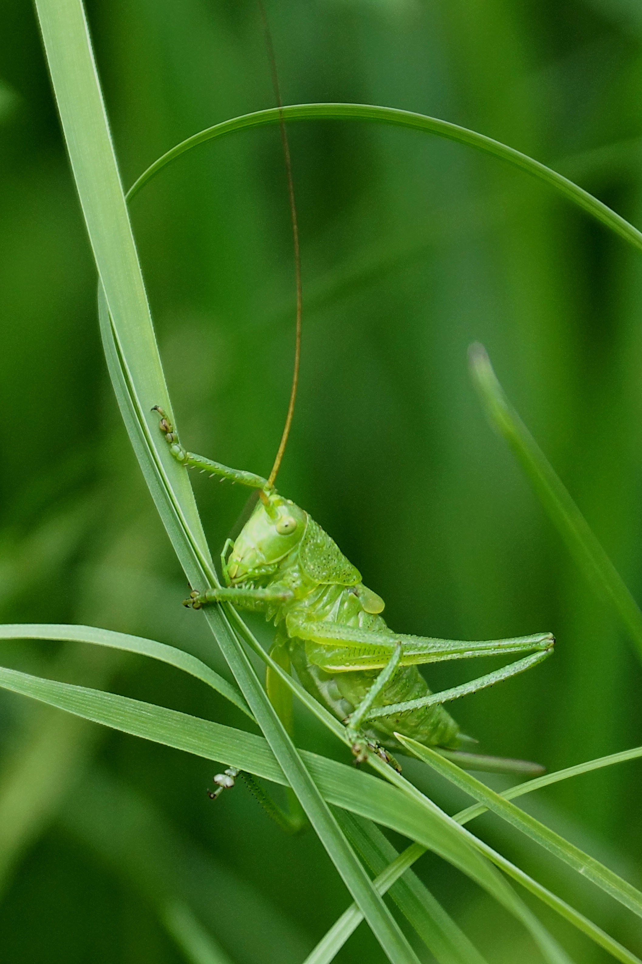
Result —
[{"label": "narrow arching blade from left edge, above the broader left-edge blade", "polygon": [[94,646],[107,646],[115,650],[123,650],[125,653],[140,653],[141,656],[150,656],[152,659],[159,659],[161,662],[169,663],[176,669],[195,676],[201,683],[207,683],[222,696],[225,696],[230,703],[233,703],[239,710],[243,710],[246,716],[254,719],[248,705],[239,691],[227,683],[222,676],[215,673],[213,669],[206,666],[184,650],[178,650],[174,646],[167,646],[165,643],[157,643],[153,639],[144,639],[142,636],[131,636],[126,632],[115,632],[112,629],[96,629],[94,626],[66,626],[63,624],[29,624],[13,623],[0,625],[0,639],[50,639],[65,640],[75,643],[92,643]]}]

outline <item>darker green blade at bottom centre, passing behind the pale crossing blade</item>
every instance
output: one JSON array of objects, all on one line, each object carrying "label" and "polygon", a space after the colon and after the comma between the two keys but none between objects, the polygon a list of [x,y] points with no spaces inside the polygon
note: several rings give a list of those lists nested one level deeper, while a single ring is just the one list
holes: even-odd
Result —
[{"label": "darker green blade at bottom centre, passing behind the pale crossing blade", "polygon": [[[340,811],[338,819],[348,840],[373,873],[386,870],[388,864],[399,856],[388,838],[370,820],[363,820],[346,811]],[[406,873],[403,880],[390,887],[389,894],[440,964],[486,964],[464,931],[412,870]],[[325,942],[326,955],[315,949],[305,964],[332,960],[343,943],[341,940],[336,949],[331,950],[329,942]]]}]

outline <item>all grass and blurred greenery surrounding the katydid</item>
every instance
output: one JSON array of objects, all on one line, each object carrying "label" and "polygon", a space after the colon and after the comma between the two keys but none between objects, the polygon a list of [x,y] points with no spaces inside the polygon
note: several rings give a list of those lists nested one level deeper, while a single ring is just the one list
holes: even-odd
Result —
[{"label": "all grass and blurred greenery surrounding the katydid", "polygon": [[[180,606],[186,578],[217,584],[245,495],[199,479],[195,497],[152,406],[266,473],[289,392],[254,2],[90,6],[100,81],[78,0],[36,6],[46,57],[12,0],[0,76],[4,955],[639,964],[642,21],[601,0],[268,10],[302,105],[284,109],[304,350],[280,490],[391,626],[555,632],[546,665],[457,706],[481,753],[548,767],[509,790],[405,737],[402,775],[356,770],[261,621]],[[476,341],[546,456],[479,347],[471,384]],[[448,689],[496,668],[427,672]],[[223,766],[254,779],[212,801]],[[266,790],[311,826],[286,835]]]}]

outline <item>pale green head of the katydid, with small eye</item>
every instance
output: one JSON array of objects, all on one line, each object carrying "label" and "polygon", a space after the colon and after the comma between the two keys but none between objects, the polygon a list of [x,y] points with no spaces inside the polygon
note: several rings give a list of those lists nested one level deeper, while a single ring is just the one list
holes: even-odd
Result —
[{"label": "pale green head of the katydid, with small eye", "polygon": [[236,585],[271,576],[299,545],[307,522],[307,513],[289,499],[262,494],[227,558],[229,582]]}]

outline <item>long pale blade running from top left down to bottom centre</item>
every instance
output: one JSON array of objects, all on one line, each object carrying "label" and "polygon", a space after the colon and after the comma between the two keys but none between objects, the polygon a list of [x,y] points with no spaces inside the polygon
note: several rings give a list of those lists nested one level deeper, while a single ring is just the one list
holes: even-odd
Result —
[{"label": "long pale blade running from top left down to bottom centre", "polygon": [[[103,328],[103,340],[113,337],[108,356],[113,375],[117,362],[120,367],[115,387],[121,411],[185,573],[192,585],[207,588],[214,580],[213,570],[187,472],[172,459],[158,430],[157,415],[150,411],[160,404],[171,413],[171,407],[85,13],[80,0],[37,0],[37,10],[71,167],[112,322],[109,332]],[[417,964],[415,952],[339,830],[223,614],[209,607],[205,618],[289,785],[368,925],[394,964]]]}]

